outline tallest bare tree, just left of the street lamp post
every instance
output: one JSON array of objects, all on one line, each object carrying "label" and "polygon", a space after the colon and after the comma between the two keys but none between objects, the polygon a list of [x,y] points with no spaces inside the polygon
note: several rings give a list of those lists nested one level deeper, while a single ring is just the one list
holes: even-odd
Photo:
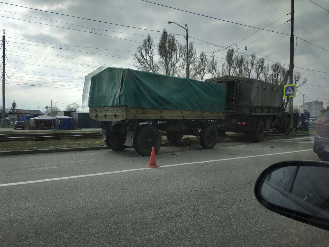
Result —
[{"label": "tallest bare tree, just left of the street lamp post", "polygon": [[163,70],[164,74],[176,75],[177,66],[182,56],[182,48],[175,36],[168,34],[165,28],[158,42],[158,53],[160,69]]}]

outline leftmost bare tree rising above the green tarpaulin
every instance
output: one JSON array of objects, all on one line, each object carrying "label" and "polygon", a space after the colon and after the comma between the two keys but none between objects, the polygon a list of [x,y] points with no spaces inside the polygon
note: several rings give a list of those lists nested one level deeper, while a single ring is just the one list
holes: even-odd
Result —
[{"label": "leftmost bare tree rising above the green tarpaulin", "polygon": [[135,64],[134,66],[143,71],[159,73],[160,66],[155,61],[154,41],[148,34],[143,43],[137,47],[135,54],[133,54]]}]

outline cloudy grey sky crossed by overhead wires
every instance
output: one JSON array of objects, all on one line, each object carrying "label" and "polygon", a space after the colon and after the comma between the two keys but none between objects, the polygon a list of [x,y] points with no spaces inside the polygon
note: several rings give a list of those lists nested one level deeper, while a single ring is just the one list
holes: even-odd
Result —
[{"label": "cloudy grey sky crossed by overhead wires", "polygon": [[[37,109],[37,102],[40,107],[45,107],[50,105],[51,99],[61,109],[72,102],[81,104],[84,76],[100,66],[134,69],[132,53],[147,34],[157,42],[161,32],[156,31],[166,28],[168,32],[177,34],[177,40],[184,43],[182,35],[185,30],[174,24],[168,25],[168,21],[182,26],[188,24],[190,41],[194,42],[197,53],[204,51],[210,56],[220,49],[215,45],[226,47],[237,43],[239,52],[247,55],[256,52],[257,57],[266,59],[266,64],[277,61],[284,65],[289,63],[290,36],[285,35],[290,34],[290,22],[287,22],[290,15],[287,14],[291,12],[291,2],[288,0],[152,0],[170,7],[259,28],[281,18],[265,29],[276,28],[275,31],[283,34],[264,30],[255,33],[258,29],[141,0],[2,1],[92,19],[85,20],[0,3],[0,28],[5,30],[8,42],[8,107],[13,100],[20,109]],[[327,0],[313,1],[329,10]],[[319,100],[324,101],[326,106],[329,93],[329,52],[324,49],[329,50],[329,12],[310,0],[296,0],[294,23],[294,34],[300,38],[297,39],[294,53],[294,70],[302,73],[302,79],[308,79],[307,84],[299,88],[294,105],[303,103],[301,93],[305,94],[305,102]],[[244,39],[249,35],[249,38]],[[265,36],[262,37],[263,35]],[[242,39],[244,40],[241,41]],[[235,45],[233,48],[236,50]],[[215,54],[218,65],[224,62],[224,52]]]}]

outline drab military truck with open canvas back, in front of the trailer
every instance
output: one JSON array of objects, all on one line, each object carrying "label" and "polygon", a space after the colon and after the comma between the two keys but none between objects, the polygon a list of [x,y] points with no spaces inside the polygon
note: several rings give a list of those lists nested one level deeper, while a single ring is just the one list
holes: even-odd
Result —
[{"label": "drab military truck with open canvas back, in front of the trailer", "polygon": [[225,119],[218,121],[220,135],[245,133],[250,141],[261,142],[266,130],[290,130],[291,114],[283,111],[283,87],[231,75],[205,81],[226,86]]}]

